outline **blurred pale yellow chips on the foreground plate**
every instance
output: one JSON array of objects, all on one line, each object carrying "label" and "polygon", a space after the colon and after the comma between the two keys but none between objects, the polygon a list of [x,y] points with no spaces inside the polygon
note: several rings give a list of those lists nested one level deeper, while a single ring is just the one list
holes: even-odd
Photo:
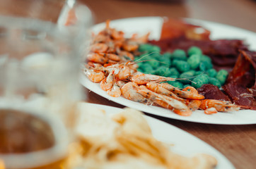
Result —
[{"label": "blurred pale yellow chips on the foreground plate", "polygon": [[[84,106],[84,105],[81,105]],[[214,168],[213,156],[190,158],[170,151],[156,140],[139,111],[125,108],[110,118],[87,106],[77,131],[81,133],[83,163],[93,168]],[[83,120],[82,120],[83,119]]]}]

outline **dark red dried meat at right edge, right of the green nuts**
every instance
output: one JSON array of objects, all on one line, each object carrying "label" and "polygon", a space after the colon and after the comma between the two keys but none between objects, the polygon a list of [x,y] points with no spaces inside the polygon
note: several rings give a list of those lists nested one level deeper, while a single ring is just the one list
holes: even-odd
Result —
[{"label": "dark red dried meat at right edge, right of the green nuts", "polygon": [[233,103],[256,110],[256,51],[240,51],[223,90]]}]

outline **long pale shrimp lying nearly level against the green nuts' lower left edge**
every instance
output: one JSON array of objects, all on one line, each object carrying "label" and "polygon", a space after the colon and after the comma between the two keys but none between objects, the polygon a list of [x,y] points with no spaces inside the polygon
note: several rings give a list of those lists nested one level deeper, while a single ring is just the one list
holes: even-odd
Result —
[{"label": "long pale shrimp lying nearly level against the green nuts' lower left edge", "polygon": [[150,75],[144,73],[141,73],[139,75],[133,75],[131,80],[136,84],[147,84],[148,82],[175,81],[175,79],[172,77],[162,77],[158,75]]}]

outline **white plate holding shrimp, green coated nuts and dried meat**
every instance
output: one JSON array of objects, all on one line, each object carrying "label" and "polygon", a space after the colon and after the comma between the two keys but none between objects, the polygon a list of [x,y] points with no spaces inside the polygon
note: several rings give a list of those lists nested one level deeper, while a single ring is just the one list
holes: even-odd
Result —
[{"label": "white plate holding shrimp, green coated nuts and dried meat", "polygon": [[[211,31],[212,39],[244,39],[245,42],[250,44],[250,49],[256,50],[256,34],[254,32],[243,30],[238,27],[232,27],[228,25],[212,23],[202,20],[187,19],[187,21],[189,21],[190,23],[206,27],[208,30]],[[127,18],[122,20],[112,20],[110,22],[110,27],[114,27],[117,30],[124,31],[127,37],[131,36],[134,33],[144,35],[146,32],[151,32],[151,35],[149,37],[150,39],[159,39],[162,23],[163,18],[161,17]],[[95,25],[93,27],[93,32],[98,32],[102,30],[104,27],[105,23]],[[99,84],[91,82],[84,75],[81,76],[81,84],[83,84],[83,86],[95,92],[96,94],[99,94],[100,96],[110,99],[111,101],[115,101],[118,104],[135,108],[139,111],[144,111],[146,113],[151,113],[153,115],[160,115],[165,118],[221,125],[247,125],[256,123],[256,111],[243,110],[230,113],[216,113],[212,115],[206,115],[204,114],[203,111],[194,111],[191,116],[183,117],[165,108],[159,108],[156,106],[146,106],[144,104],[124,99],[122,96],[118,98],[108,96],[105,91],[100,89]]]}]

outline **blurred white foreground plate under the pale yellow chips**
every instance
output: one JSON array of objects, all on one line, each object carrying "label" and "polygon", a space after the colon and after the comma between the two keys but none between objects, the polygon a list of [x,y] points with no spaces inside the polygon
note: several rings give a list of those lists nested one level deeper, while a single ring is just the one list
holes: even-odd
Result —
[{"label": "blurred white foreground plate under the pale yellow chips", "polygon": [[[84,103],[86,104],[86,103]],[[107,115],[113,115],[115,113],[120,113],[122,111],[121,108],[115,108],[111,106],[103,106],[100,104],[89,104],[96,106],[97,108],[101,108],[106,111]],[[157,120],[155,118],[151,118],[149,116],[144,115],[149,126],[151,127],[153,137],[158,139],[161,142],[167,144],[173,144],[171,147],[172,151],[182,156],[193,156],[194,154],[209,154],[214,156],[218,165],[217,168],[234,168],[232,163],[228,161],[228,159],[223,156],[219,151],[216,151],[212,146],[206,144],[201,139],[194,137],[192,134],[180,130],[178,127],[174,127],[173,125],[168,125],[168,123],[164,123],[161,120]],[[168,134],[167,134],[168,133]]]}]

